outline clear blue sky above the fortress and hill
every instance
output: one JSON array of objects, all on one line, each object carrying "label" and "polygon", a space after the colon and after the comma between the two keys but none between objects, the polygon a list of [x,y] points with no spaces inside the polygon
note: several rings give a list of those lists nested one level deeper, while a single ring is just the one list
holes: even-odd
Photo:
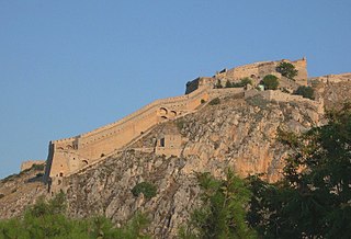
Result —
[{"label": "clear blue sky above the fortress and hill", "polygon": [[0,0],[0,178],[223,68],[351,71],[350,0]]}]

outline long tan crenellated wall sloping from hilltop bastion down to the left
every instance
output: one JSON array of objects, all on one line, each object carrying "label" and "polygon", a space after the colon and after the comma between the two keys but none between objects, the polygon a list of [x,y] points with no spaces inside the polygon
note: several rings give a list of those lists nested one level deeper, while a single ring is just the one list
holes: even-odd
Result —
[{"label": "long tan crenellated wall sloping from hilltop bastion down to the left", "polygon": [[92,132],[50,143],[48,177],[60,178],[73,173],[106,155],[126,146],[154,125],[194,111],[201,100],[208,101],[207,88],[190,94],[157,100],[139,111]]}]

